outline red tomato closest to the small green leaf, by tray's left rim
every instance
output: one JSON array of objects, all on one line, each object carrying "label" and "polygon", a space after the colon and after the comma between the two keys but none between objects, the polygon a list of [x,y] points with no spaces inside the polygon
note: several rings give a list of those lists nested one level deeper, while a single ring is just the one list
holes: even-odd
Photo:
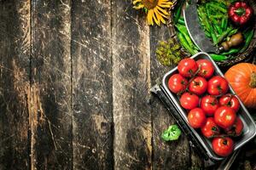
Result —
[{"label": "red tomato closest to the small green leaf, by tray's left rim", "polygon": [[205,125],[207,116],[201,108],[197,107],[189,111],[188,121],[191,127],[199,128]]}]

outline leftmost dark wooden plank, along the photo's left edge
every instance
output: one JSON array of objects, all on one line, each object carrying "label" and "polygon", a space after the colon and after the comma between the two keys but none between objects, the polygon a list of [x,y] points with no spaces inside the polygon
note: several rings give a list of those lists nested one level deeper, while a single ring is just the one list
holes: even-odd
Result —
[{"label": "leftmost dark wooden plank, along the photo's left edge", "polygon": [[0,1],[0,19],[0,169],[28,169],[30,1]]}]

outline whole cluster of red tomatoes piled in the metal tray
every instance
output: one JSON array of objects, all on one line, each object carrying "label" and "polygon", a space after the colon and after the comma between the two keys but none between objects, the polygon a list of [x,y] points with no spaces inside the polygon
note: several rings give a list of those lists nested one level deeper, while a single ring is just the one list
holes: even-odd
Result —
[{"label": "whole cluster of red tomatoes piled in the metal tray", "polygon": [[229,83],[224,77],[213,75],[214,66],[207,59],[182,59],[177,70],[168,87],[180,96],[180,105],[189,112],[189,125],[212,139],[212,150],[218,156],[229,156],[234,150],[230,137],[240,136],[243,129],[236,116],[239,100],[227,94]]}]

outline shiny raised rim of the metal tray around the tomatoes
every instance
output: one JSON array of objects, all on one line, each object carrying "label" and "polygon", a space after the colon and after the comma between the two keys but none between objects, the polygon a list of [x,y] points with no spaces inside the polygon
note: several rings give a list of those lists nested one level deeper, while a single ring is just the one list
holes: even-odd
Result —
[{"label": "shiny raised rim of the metal tray around the tomatoes", "polygon": [[[207,56],[207,59],[212,61],[212,64],[215,67],[215,72],[219,75],[224,77],[224,74],[222,73],[222,71],[219,70],[218,65],[216,65],[216,63],[211,59],[211,57],[204,52],[200,52],[198,54],[193,55],[192,57],[190,57],[191,59],[195,59],[196,57],[200,56],[200,55],[205,55]],[[181,116],[183,117],[184,121],[188,123],[188,119],[186,116],[186,113],[183,111],[183,108],[179,105],[179,103],[177,102],[177,99],[175,99],[175,96],[170,92],[169,88],[167,87],[167,78],[170,77],[170,75],[172,75],[172,73],[174,73],[175,71],[177,71],[177,67],[173,68],[171,71],[168,71],[165,76],[162,79],[162,85],[166,90],[166,94],[168,94],[169,99],[172,99],[172,102],[175,104],[175,106],[177,107],[177,110],[182,113]],[[233,90],[233,88],[230,87],[230,94],[235,94],[235,91]],[[236,95],[237,96],[237,95]],[[238,97],[238,96],[237,96]],[[238,98],[239,99],[239,98]],[[241,103],[241,99],[240,100],[240,104],[241,104],[241,110],[243,112],[243,116],[240,116],[242,118],[244,118],[244,116],[246,116],[247,122],[250,123],[251,128],[249,127],[245,127],[247,128],[247,131],[251,131],[251,135],[247,138],[244,139],[243,141],[240,141],[239,144],[235,144],[235,149],[234,150],[238,150],[239,148],[241,148],[242,145],[246,144],[249,140],[253,139],[253,137],[256,135],[256,124],[253,121],[252,116],[250,116],[249,112],[247,111],[246,107]],[[244,119],[243,119],[244,120]],[[244,123],[245,124],[245,123]],[[246,123],[247,124],[247,123]],[[190,128],[192,130],[192,132],[195,134],[195,137],[201,142],[202,146],[205,148],[205,150],[207,150],[207,155],[212,158],[213,160],[216,161],[221,161],[224,159],[224,157],[221,156],[217,156],[216,154],[213,153],[212,148],[207,146],[209,144],[206,144],[206,140],[204,137],[202,137],[202,135],[200,135],[199,133],[197,133],[195,131],[194,128]]]}]

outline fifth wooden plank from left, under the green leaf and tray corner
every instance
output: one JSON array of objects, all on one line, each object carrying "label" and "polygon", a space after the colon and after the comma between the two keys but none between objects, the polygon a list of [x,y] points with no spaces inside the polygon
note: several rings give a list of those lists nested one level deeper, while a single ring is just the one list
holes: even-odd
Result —
[{"label": "fifth wooden plank from left, under the green leaf and tray corner", "polygon": [[[159,41],[167,40],[170,37],[166,26],[151,27],[150,29],[150,48],[151,48],[151,82],[160,78],[160,81],[171,67],[160,65],[155,56],[155,49]],[[170,143],[160,139],[160,134],[170,125],[175,123],[172,116],[169,116],[164,105],[154,98],[152,105],[153,115],[153,169],[188,169],[190,166],[189,144],[184,135],[180,139]]]}]

